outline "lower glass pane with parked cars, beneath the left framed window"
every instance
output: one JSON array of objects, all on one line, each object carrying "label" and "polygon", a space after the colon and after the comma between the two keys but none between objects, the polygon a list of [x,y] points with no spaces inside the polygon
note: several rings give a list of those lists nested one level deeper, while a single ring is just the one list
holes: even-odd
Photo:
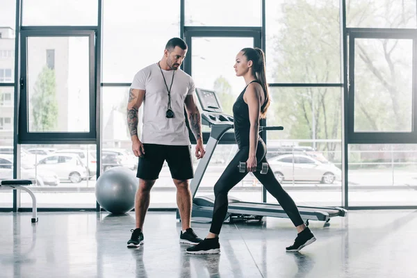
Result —
[{"label": "lower glass pane with parked cars, beneath the left framed window", "polygon": [[[22,152],[21,177],[35,179],[38,208],[95,208],[95,145],[22,145]],[[27,193],[21,197],[22,207],[32,206]]]}]

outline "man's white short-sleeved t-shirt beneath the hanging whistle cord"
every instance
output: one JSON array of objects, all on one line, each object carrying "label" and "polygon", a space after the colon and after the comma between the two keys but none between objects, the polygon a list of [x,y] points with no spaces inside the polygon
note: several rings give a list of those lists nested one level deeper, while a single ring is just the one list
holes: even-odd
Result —
[{"label": "man's white short-sleeved t-shirt beneath the hanging whistle cord", "polygon": [[168,91],[158,63],[140,70],[134,77],[131,89],[145,90],[142,102],[142,143],[159,145],[190,145],[184,101],[195,93],[193,78],[182,70],[162,70],[168,88],[171,87],[171,109],[174,117],[167,118]]}]

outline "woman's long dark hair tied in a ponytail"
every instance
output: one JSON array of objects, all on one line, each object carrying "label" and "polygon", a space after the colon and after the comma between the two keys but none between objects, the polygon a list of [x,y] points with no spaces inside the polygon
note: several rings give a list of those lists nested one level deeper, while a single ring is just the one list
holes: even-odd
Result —
[{"label": "woman's long dark hair tied in a ponytail", "polygon": [[261,118],[264,118],[266,117],[266,111],[268,111],[271,102],[268,92],[268,83],[266,82],[265,55],[263,54],[262,49],[257,47],[247,47],[241,51],[248,61],[252,60],[252,72],[265,91],[265,102],[261,106]]}]

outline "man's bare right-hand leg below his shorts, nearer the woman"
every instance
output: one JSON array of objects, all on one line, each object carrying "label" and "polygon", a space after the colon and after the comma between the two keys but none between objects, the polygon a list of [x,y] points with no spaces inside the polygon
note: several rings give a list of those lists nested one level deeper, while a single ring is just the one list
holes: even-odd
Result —
[{"label": "man's bare right-hand leg below his shorts, nearer the woman", "polygon": [[179,208],[179,215],[181,216],[182,230],[191,227],[191,192],[188,184],[188,179],[180,180],[173,179],[175,186],[177,186],[177,205]]}]

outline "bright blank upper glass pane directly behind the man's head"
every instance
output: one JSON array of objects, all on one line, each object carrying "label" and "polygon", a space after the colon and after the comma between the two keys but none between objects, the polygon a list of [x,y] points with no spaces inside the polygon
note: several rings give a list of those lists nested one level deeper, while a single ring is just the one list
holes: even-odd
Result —
[{"label": "bright blank upper glass pane directly behind the man's head", "polygon": [[131,83],[160,60],[167,41],[179,37],[179,11],[179,0],[104,1],[103,82]]}]

